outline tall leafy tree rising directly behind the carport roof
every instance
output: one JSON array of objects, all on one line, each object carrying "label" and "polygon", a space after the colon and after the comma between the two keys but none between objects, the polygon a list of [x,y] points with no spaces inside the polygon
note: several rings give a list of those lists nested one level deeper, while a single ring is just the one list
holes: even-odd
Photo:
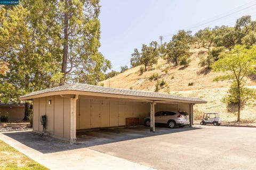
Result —
[{"label": "tall leafy tree rising directly behind the carport roof", "polygon": [[[60,85],[71,80],[97,84],[110,69],[100,47],[99,0],[24,1],[31,24],[45,41],[53,42],[50,50],[61,55]],[[79,77],[77,78],[77,75]]]}]

